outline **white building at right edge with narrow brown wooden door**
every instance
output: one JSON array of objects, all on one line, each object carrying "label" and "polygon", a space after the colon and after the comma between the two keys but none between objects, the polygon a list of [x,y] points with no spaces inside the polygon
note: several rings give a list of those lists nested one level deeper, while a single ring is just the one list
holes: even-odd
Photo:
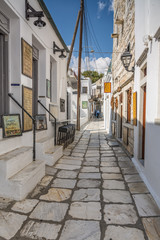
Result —
[{"label": "white building at right edge with narrow brown wooden door", "polygon": [[134,158],[160,206],[160,1],[135,0]]}]

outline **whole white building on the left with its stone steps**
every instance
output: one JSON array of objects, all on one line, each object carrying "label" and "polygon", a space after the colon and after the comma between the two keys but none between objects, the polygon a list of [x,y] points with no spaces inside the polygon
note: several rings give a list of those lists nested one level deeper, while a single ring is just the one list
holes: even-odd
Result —
[{"label": "whole white building on the left with its stone steps", "polygon": [[[45,27],[35,26],[37,17],[26,19],[27,6],[43,11]],[[37,102],[41,100],[59,122],[67,118],[66,59],[59,58],[63,51],[54,53],[54,42],[66,55],[68,49],[43,0],[0,1],[0,115],[20,114],[23,129],[22,136],[4,139],[0,123],[0,196],[23,199],[44,176],[44,163],[53,165],[62,155],[61,146],[54,148],[54,123]],[[36,131],[35,162],[32,121],[8,93],[34,118],[46,115],[47,130]]]}]

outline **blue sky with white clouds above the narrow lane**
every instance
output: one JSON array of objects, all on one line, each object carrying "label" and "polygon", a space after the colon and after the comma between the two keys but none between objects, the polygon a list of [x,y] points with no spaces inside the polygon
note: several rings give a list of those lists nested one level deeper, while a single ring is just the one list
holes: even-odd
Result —
[{"label": "blue sky with white clouds above the narrow lane", "polygon": [[[44,0],[65,44],[70,47],[80,0]],[[112,57],[113,0],[84,0],[86,28],[83,34],[82,72],[104,73]],[[77,73],[79,29],[70,67]],[[91,53],[92,50],[92,53]],[[88,53],[89,52],[89,53]],[[100,53],[101,52],[101,53]]]}]

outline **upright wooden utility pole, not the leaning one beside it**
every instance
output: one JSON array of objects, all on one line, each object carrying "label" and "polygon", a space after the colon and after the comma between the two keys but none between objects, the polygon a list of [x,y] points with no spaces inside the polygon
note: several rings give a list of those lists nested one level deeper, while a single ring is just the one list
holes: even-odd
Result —
[{"label": "upright wooden utility pole, not the leaning one beside it", "polygon": [[80,39],[79,39],[79,58],[78,58],[78,86],[77,86],[77,130],[80,131],[80,97],[81,97],[81,57],[82,57],[82,35],[83,35],[83,14],[84,0],[81,0],[80,10]]}]

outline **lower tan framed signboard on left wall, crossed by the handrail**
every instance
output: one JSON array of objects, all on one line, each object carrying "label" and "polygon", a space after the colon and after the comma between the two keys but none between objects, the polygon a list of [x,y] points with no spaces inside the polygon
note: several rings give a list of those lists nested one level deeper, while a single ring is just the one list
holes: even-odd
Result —
[{"label": "lower tan framed signboard on left wall, crossed by the handrail", "polygon": [[[32,89],[23,86],[23,107],[32,116]],[[32,119],[23,111],[23,131],[32,130]]]}]

